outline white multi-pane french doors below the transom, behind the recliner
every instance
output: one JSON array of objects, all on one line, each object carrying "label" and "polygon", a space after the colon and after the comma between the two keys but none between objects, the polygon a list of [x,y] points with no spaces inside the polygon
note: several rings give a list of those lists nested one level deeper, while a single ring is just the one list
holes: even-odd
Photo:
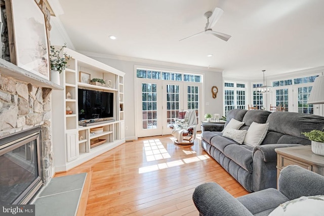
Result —
[{"label": "white multi-pane french doors below the transom, behind the recliner", "polygon": [[196,110],[199,116],[201,86],[196,82],[137,79],[137,137],[171,134],[169,125],[179,110]]}]

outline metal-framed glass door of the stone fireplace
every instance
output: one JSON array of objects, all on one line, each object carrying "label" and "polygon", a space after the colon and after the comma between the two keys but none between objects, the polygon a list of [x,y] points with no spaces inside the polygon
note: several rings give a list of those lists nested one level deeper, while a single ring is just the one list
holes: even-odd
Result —
[{"label": "metal-framed glass door of the stone fireplace", "polygon": [[0,146],[0,204],[24,204],[41,182],[39,133]]}]

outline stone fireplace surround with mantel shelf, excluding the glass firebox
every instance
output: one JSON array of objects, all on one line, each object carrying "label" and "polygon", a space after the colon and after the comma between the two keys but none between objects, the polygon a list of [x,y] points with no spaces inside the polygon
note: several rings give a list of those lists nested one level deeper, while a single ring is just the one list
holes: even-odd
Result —
[{"label": "stone fireplace surround with mantel shelf, excluding the glass firebox", "polygon": [[54,175],[51,92],[63,87],[0,59],[0,138],[42,126],[43,181]]}]

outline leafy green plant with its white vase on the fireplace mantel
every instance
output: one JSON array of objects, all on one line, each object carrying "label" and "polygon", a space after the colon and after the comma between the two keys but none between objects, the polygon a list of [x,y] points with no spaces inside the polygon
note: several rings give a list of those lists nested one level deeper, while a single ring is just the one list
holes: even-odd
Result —
[{"label": "leafy green plant with its white vase on the fireplace mantel", "polygon": [[66,48],[66,44],[60,49],[51,46],[50,50],[51,81],[56,84],[60,84],[60,73],[65,70],[67,61],[71,59],[71,56],[62,53],[64,48]]}]

